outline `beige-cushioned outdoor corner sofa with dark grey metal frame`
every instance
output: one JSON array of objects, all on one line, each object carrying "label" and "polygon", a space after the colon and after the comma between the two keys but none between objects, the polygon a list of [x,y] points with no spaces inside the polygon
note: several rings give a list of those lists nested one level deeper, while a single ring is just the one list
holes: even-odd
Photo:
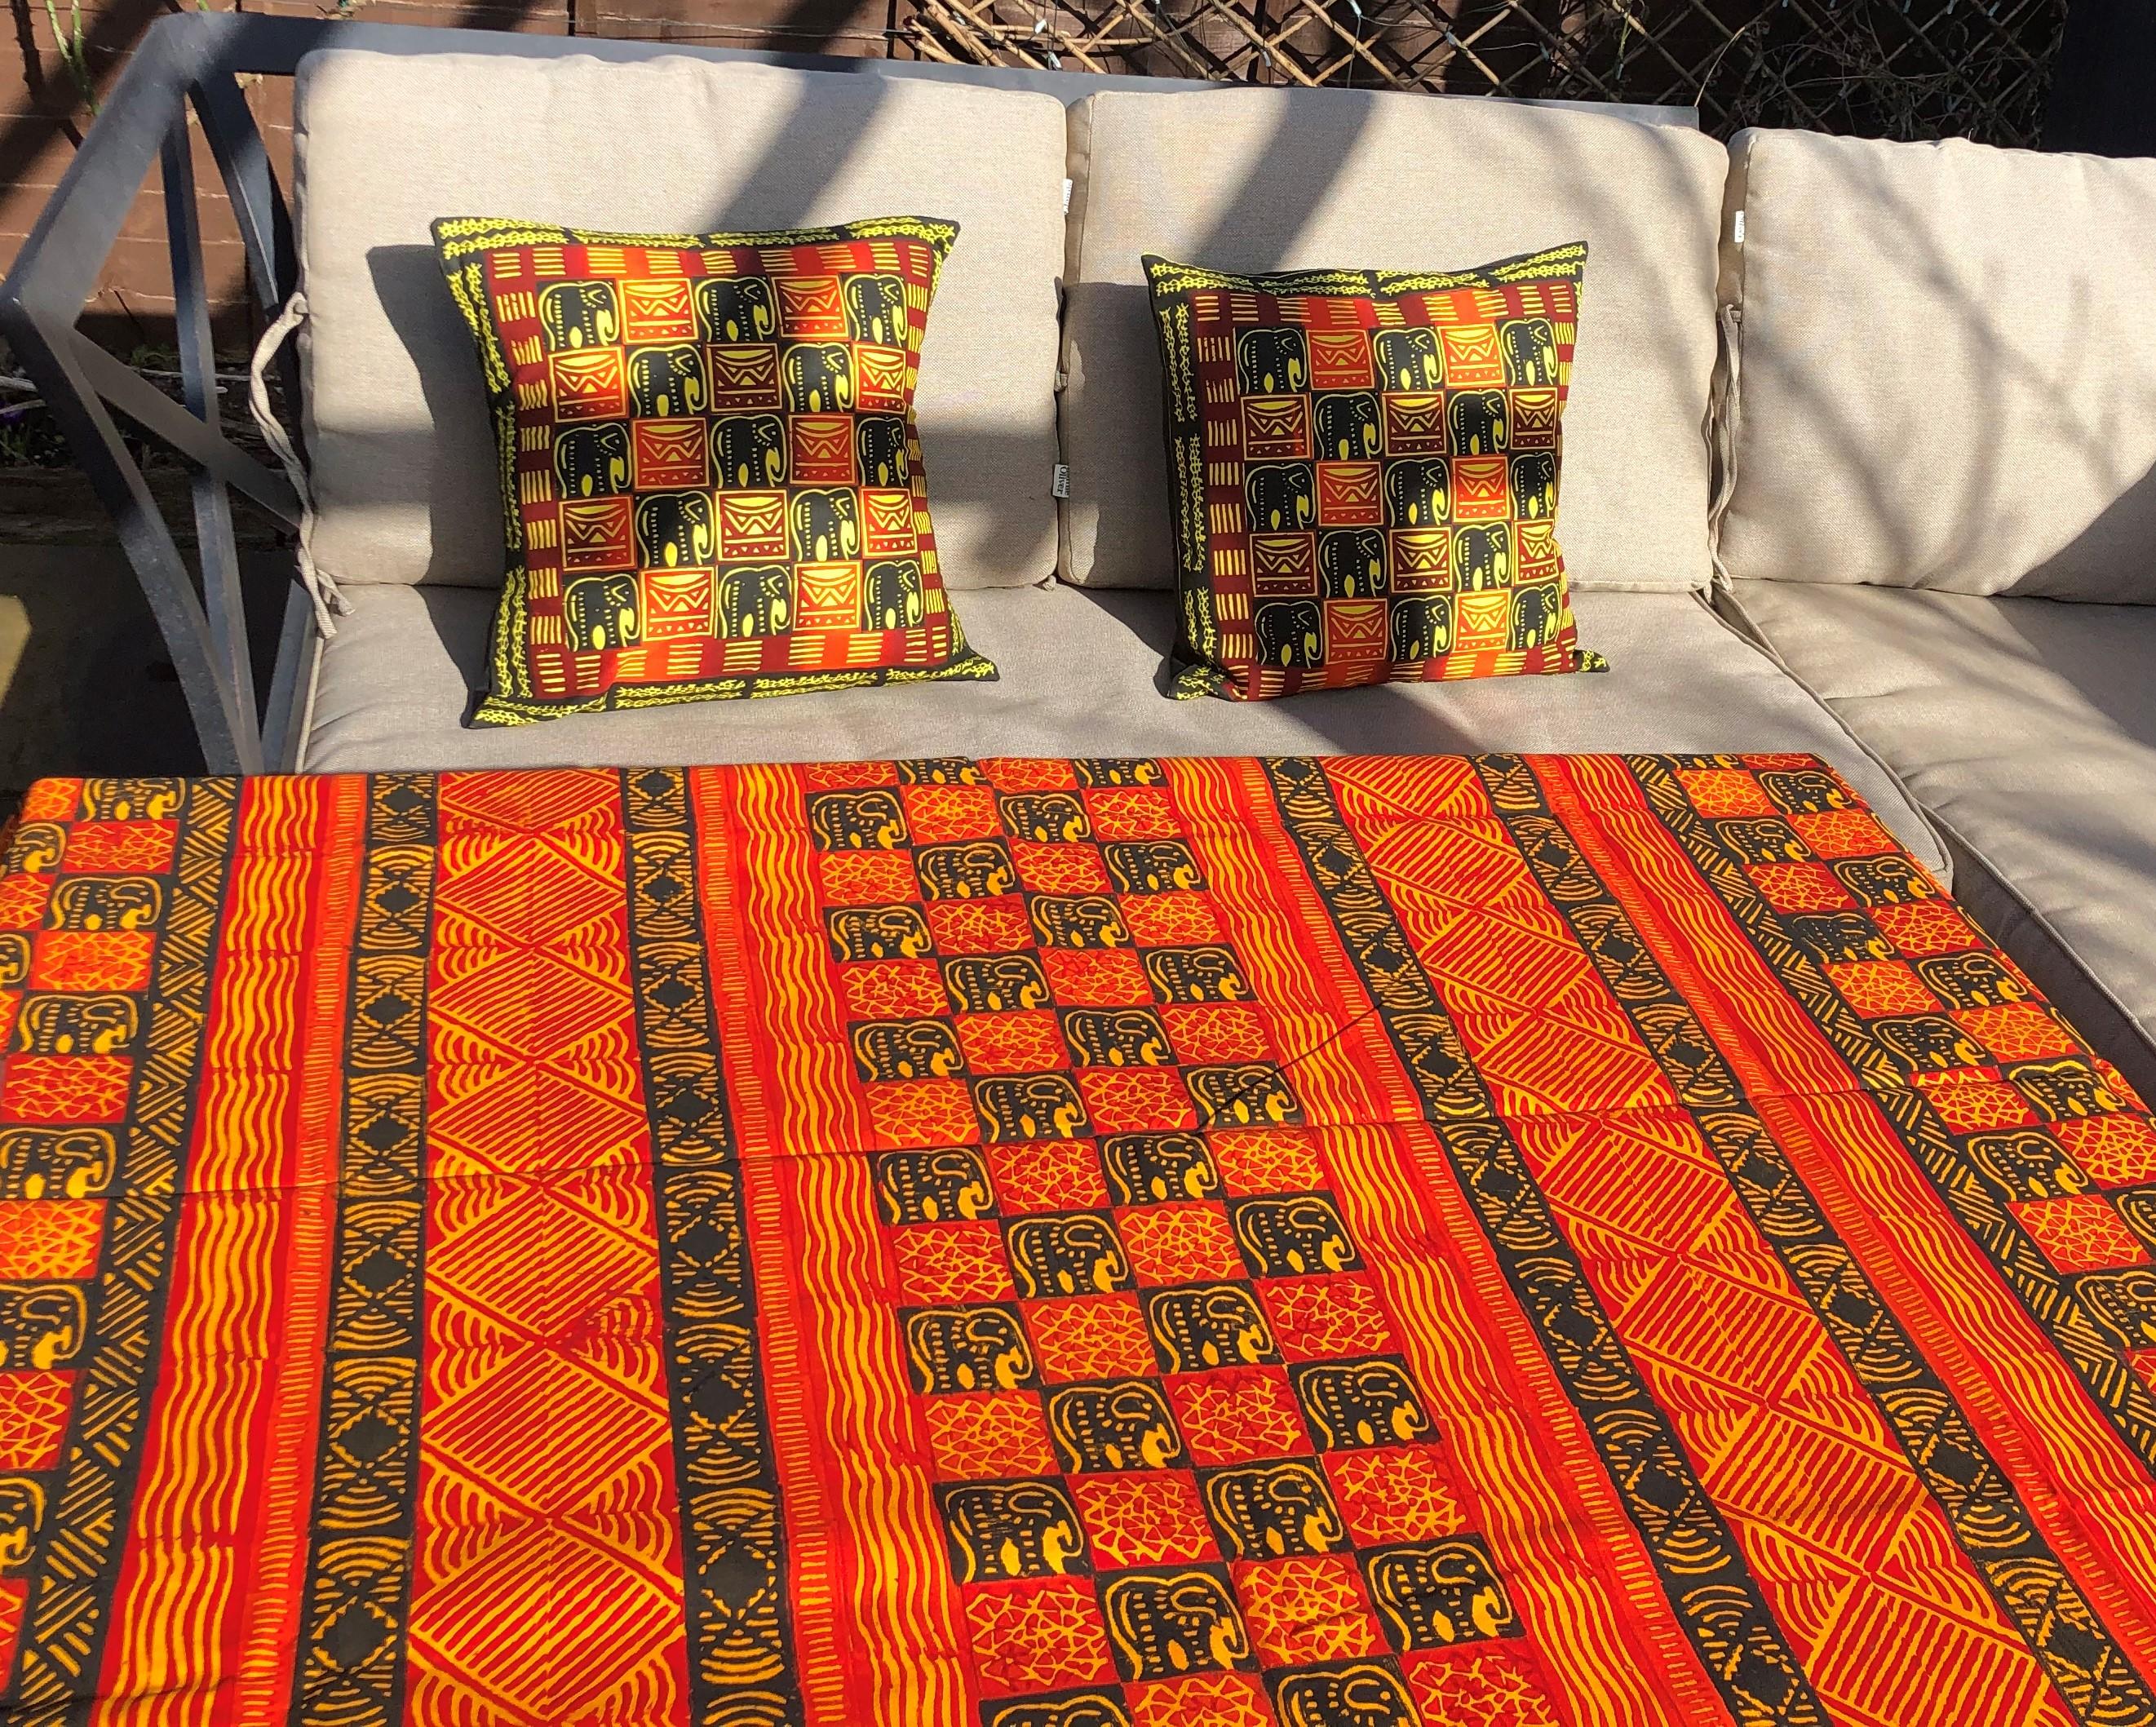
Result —
[{"label": "beige-cushioned outdoor corner sofa with dark grey metal frame", "polygon": [[[295,71],[291,216],[235,75]],[[224,487],[287,481],[73,330],[162,153],[183,358],[207,306],[192,97],[302,405],[334,636],[263,701]],[[1742,134],[1669,110],[175,17],[0,330],[121,517],[218,770],[931,755],[1809,750],[2156,1084],[2156,164]],[[709,231],[929,213],[962,239],[918,395],[946,582],[994,683],[466,729],[500,582],[444,213]],[[1559,537],[1606,675],[1171,701],[1143,252],[1449,267],[1587,239]],[[196,599],[114,431],[205,466]],[[267,718],[259,720],[257,714]]]}]

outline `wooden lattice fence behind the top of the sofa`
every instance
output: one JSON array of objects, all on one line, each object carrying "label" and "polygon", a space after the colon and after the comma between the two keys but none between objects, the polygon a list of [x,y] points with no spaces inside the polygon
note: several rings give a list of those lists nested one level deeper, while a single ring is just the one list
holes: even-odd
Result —
[{"label": "wooden lattice fence behind the top of the sofa", "polygon": [[916,54],[2035,144],[2065,0],[914,0]]}]

